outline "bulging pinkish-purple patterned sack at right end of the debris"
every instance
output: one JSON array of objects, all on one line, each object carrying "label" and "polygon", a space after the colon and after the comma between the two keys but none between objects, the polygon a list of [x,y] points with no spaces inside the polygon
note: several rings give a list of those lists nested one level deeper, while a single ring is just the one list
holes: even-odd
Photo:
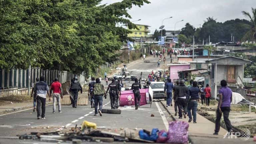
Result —
[{"label": "bulging pinkish-purple patterned sack at right end of the debris", "polygon": [[188,126],[184,121],[169,122],[169,130],[167,136],[167,143],[182,143],[188,142]]}]

